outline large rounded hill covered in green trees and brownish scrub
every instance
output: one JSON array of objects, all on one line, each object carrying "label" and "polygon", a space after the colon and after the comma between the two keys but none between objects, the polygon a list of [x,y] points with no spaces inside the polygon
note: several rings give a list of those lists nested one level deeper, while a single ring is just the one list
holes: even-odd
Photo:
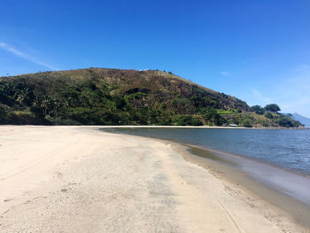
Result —
[{"label": "large rounded hill covered in green trees and brownish scrub", "polygon": [[[2,124],[222,125],[236,121],[219,110],[243,116],[250,107],[236,97],[157,70],[89,68],[0,78]],[[239,121],[242,125],[243,120]]]}]

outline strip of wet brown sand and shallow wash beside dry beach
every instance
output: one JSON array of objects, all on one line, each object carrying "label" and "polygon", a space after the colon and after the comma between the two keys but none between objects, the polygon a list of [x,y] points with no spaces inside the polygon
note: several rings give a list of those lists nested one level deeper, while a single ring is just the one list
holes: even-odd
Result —
[{"label": "strip of wet brown sand and shallow wash beside dry beach", "polygon": [[[208,151],[191,145],[187,145],[184,149],[188,152],[183,151],[183,155],[190,162],[205,167],[214,175],[220,175],[222,179],[226,179],[237,185],[240,184],[245,190],[250,190],[259,198],[279,207],[290,214],[295,221],[310,229],[310,192],[307,192],[310,189],[310,180],[308,178],[283,171],[277,167],[270,167],[269,165],[252,161],[252,159],[245,159],[238,156],[231,158],[230,154],[225,155],[226,153],[221,151]],[[245,172],[240,168],[240,163],[246,164]],[[252,171],[250,170],[251,168]],[[303,189],[301,191],[304,192],[300,193],[299,196],[298,194],[294,196],[294,193],[290,193],[290,195],[285,194],[286,190],[282,186],[271,186],[273,183],[268,183],[268,181],[261,180],[260,177],[257,177],[258,172],[266,172],[270,175],[270,180],[273,179],[273,176],[278,177],[283,175],[281,181],[276,181],[276,183],[285,182],[286,180],[283,187],[291,185],[294,188],[294,186],[297,186],[298,191]],[[253,175],[251,176],[252,173]]]}]

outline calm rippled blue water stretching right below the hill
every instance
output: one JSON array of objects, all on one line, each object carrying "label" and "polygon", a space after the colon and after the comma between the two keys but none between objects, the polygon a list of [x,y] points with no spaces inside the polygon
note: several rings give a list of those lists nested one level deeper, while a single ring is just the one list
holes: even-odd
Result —
[{"label": "calm rippled blue water stretching right below the hill", "polygon": [[173,139],[259,159],[310,175],[310,130],[231,128],[119,128],[118,132]]}]

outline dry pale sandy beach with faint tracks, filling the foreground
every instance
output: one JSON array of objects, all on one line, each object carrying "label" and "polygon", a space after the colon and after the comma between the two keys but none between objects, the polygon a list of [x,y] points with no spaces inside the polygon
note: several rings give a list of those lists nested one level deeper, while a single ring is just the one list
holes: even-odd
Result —
[{"label": "dry pale sandy beach with faint tracks, filling the foreground", "polygon": [[0,126],[0,232],[310,232],[182,151],[96,127]]}]

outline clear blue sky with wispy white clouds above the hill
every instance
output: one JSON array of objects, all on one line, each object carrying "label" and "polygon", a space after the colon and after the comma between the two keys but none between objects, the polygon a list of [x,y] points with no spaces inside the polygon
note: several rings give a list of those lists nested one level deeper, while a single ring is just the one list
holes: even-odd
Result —
[{"label": "clear blue sky with wispy white clouds above the hill", "polygon": [[0,75],[172,71],[310,117],[310,1],[2,0]]}]

